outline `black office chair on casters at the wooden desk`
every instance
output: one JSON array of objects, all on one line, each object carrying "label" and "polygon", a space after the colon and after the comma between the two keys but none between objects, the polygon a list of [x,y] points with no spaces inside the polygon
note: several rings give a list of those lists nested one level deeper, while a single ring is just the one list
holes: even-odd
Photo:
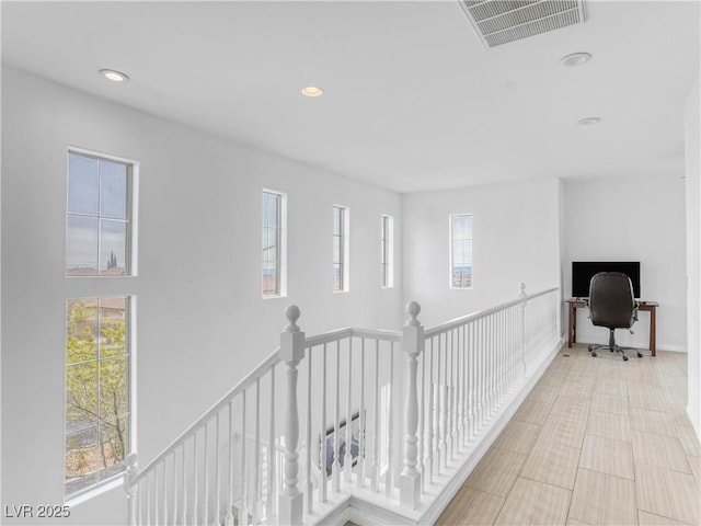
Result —
[{"label": "black office chair on casters at the wooden desk", "polygon": [[[606,327],[609,330],[608,345],[589,345],[589,353],[596,356],[596,352],[608,348],[610,352],[621,353],[628,361],[625,350],[637,351],[633,347],[620,347],[616,343],[613,331],[628,329],[637,321],[637,301],[633,295],[631,278],[621,272],[599,272],[589,283],[589,318],[597,327]],[[632,333],[632,331],[631,331]],[[637,357],[643,355],[637,351]]]}]

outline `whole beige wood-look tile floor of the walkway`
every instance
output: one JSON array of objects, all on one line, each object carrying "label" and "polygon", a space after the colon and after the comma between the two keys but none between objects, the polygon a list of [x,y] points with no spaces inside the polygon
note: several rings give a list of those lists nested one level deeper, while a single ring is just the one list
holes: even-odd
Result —
[{"label": "whole beige wood-look tile floor of the walkway", "polygon": [[438,525],[699,525],[687,355],[566,346]]}]

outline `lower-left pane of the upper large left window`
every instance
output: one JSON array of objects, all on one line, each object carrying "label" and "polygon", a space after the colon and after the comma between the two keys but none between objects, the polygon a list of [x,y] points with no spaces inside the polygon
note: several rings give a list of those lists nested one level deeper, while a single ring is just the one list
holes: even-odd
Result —
[{"label": "lower-left pane of the upper large left window", "polygon": [[97,219],[72,216],[67,219],[66,275],[97,274]]}]

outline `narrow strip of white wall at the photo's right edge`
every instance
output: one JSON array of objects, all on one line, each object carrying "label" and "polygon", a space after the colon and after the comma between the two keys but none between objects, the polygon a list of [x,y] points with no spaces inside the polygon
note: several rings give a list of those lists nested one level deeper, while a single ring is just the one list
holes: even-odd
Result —
[{"label": "narrow strip of white wall at the photo's right edge", "polygon": [[701,437],[701,170],[699,158],[699,113],[701,85],[699,77],[689,92],[685,107],[686,183],[687,183],[687,320],[688,382],[687,412]]}]

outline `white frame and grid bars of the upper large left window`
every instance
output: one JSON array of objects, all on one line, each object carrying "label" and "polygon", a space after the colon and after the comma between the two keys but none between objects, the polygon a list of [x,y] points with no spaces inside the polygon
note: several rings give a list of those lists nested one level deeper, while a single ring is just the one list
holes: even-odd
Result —
[{"label": "white frame and grid bars of the upper large left window", "polygon": [[[124,164],[126,167],[126,218],[117,219],[111,216],[103,216],[100,210],[100,206],[97,207],[96,215],[92,214],[83,214],[83,213],[74,213],[69,211],[69,202],[70,202],[70,156],[79,156],[88,159],[94,159],[99,162],[107,161],[112,163]],[[95,277],[106,277],[106,278],[116,278],[116,277],[131,277],[137,276],[137,258],[136,258],[136,240],[137,240],[137,183],[138,183],[138,172],[139,172],[139,163],[116,156],[111,156],[106,153],[95,152],[92,150],[87,150],[83,148],[69,147],[67,149],[66,157],[66,229],[65,229],[65,262],[64,262],[64,276],[68,278],[95,278]],[[100,185],[101,178],[97,181],[97,194],[100,195]],[[100,199],[100,197],[99,197]],[[68,272],[68,244],[69,244],[69,233],[68,233],[68,222],[70,217],[88,217],[95,218],[97,220],[97,267],[95,268],[95,274],[70,274]],[[125,263],[125,272],[124,274],[103,274],[101,273],[101,253],[102,253],[102,228],[101,221],[103,219],[106,220],[118,220],[124,221],[126,226],[125,232],[125,253],[124,253],[124,263]]]}]

